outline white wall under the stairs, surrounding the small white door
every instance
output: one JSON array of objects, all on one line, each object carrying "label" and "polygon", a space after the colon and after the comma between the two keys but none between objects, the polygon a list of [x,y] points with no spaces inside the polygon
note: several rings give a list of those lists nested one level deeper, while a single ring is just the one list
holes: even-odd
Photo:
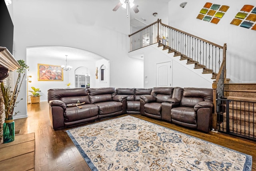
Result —
[{"label": "white wall under the stairs, surrounding the small white door", "polygon": [[[205,87],[212,88],[212,82],[202,78],[195,72],[191,72],[186,66],[176,62],[173,53],[168,54],[167,50],[163,51],[162,47],[158,48],[158,44],[153,44],[146,48],[142,48],[130,52],[131,57],[138,58],[144,56],[144,87],[156,87],[156,64],[162,62],[172,63],[172,87]],[[145,78],[147,76],[147,78]],[[146,83],[147,82],[147,83]]]}]

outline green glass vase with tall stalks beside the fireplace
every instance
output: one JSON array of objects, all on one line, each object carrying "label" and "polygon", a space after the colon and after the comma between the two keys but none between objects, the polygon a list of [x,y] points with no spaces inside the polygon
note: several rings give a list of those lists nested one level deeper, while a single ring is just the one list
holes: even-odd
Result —
[{"label": "green glass vase with tall stalks beside the fireplace", "polygon": [[20,68],[17,69],[18,77],[13,90],[9,85],[4,85],[3,82],[1,83],[1,90],[4,99],[4,109],[2,112],[5,113],[5,121],[3,125],[4,143],[14,141],[15,130],[13,116],[19,113],[19,111],[14,113],[14,107],[16,107],[20,100],[22,100],[21,98],[19,101],[16,101],[18,93],[20,92],[21,84],[24,80],[25,72],[26,70],[29,70],[29,67],[25,64],[24,60],[18,60],[17,62],[20,64]]}]

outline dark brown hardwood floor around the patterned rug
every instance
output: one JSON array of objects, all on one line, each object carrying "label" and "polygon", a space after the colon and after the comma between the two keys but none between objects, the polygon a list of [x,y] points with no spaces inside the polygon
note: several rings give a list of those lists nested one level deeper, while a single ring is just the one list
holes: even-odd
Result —
[{"label": "dark brown hardwood floor around the patterned rug", "polygon": [[[133,116],[252,155],[252,170],[256,171],[256,142],[254,141],[229,136],[223,133],[203,133],[200,131],[194,131],[141,115]],[[49,120],[49,106],[47,102],[28,104],[28,117],[15,119],[15,129],[20,130],[20,134],[35,133],[36,171],[90,170],[79,151],[65,132],[67,129],[59,131],[54,131],[52,129]]]}]

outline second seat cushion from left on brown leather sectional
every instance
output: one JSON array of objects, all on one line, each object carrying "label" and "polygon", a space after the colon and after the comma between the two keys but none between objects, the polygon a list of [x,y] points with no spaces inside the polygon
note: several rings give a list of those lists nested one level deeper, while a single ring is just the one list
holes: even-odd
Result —
[{"label": "second seat cushion from left on brown leather sectional", "polygon": [[118,101],[106,101],[95,103],[95,105],[97,105],[99,108],[99,115],[105,115],[123,110],[122,103]]}]

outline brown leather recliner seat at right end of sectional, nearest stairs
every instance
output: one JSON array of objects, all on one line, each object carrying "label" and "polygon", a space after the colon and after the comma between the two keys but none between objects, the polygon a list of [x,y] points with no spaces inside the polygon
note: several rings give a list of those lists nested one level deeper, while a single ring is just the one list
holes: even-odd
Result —
[{"label": "brown leather recliner seat at right end of sectional, nearest stairs", "polygon": [[208,132],[212,127],[213,89],[184,88],[180,106],[171,109],[172,123]]}]

